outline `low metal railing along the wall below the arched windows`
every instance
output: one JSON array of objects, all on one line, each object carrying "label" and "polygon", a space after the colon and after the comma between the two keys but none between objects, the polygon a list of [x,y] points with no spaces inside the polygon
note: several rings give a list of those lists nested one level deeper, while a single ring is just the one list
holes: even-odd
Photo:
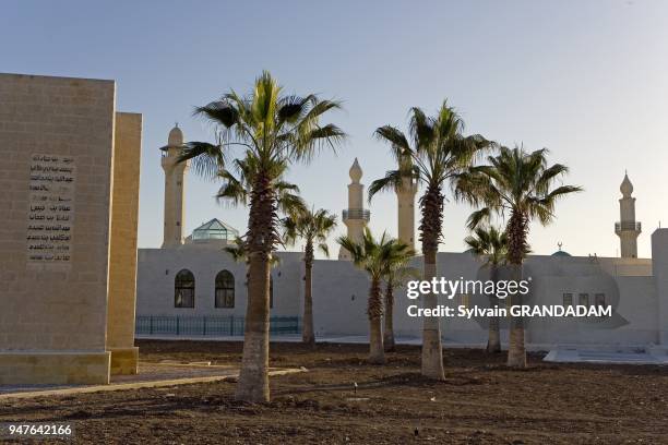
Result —
[{"label": "low metal railing along the wall below the arched windows", "polygon": [[[270,318],[271,335],[301,334],[298,316]],[[136,335],[243,336],[240,316],[138,315]]]}]

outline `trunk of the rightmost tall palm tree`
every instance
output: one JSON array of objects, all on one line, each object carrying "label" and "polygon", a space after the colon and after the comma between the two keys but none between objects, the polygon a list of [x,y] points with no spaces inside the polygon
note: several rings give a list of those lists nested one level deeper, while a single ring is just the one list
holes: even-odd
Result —
[{"label": "trunk of the rightmost tall palm tree", "polygon": [[[511,267],[511,279],[522,280],[522,262],[526,252],[526,236],[528,220],[522,213],[513,212],[508,221],[508,260]],[[522,294],[509,297],[512,305],[522,305]],[[510,345],[508,348],[508,365],[526,368],[526,349],[524,346],[524,318],[512,316],[510,326]]]}]

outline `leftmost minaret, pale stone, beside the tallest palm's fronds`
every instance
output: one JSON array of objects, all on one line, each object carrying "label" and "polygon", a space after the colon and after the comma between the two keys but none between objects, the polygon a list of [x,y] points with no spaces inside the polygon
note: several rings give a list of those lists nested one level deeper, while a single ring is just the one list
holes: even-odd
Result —
[{"label": "leftmost minaret, pale stone, beside the tallest palm's fronds", "polygon": [[186,191],[186,173],[190,160],[177,164],[183,144],[183,133],[177,124],[169,132],[167,146],[163,151],[163,170],[165,170],[165,227],[163,249],[183,244],[183,194]]}]

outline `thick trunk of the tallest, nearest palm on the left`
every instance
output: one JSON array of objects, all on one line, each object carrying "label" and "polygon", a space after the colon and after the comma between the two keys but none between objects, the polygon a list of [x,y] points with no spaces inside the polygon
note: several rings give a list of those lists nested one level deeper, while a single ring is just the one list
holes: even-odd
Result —
[{"label": "thick trunk of the tallest, nearest palm on the left", "polygon": [[271,256],[275,241],[276,204],[266,175],[253,184],[248,218],[248,305],[243,330],[243,357],[235,398],[250,402],[270,400],[269,328]]}]

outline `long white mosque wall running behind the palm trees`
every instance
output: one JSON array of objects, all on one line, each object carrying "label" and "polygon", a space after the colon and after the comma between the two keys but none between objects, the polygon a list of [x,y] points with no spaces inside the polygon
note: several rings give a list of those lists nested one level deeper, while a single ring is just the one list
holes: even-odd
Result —
[{"label": "long white mosque wall running behind the palm trees", "polygon": [[[527,302],[562,304],[563,294],[572,293],[577,304],[580,293],[587,293],[591,303],[603,293],[612,304],[615,315],[606,320],[534,318],[527,322],[527,344],[534,348],[556,345],[601,347],[657,344],[668,320],[668,230],[653,237],[654,264],[649,260],[597,258],[532,255],[524,275],[532,277]],[[658,256],[656,255],[658,254]],[[274,306],[271,316],[301,316],[303,301],[303,265],[299,252],[279,252],[281,263],[272,270]],[[413,261],[421,266],[421,257]],[[480,263],[466,253],[439,253],[439,276],[446,279],[485,279]],[[174,308],[174,277],[181,268],[195,276],[195,306]],[[653,268],[655,276],[653,277]],[[236,282],[234,309],[214,308],[215,276],[230,270]],[[366,314],[369,280],[348,261],[315,261],[313,266],[314,328],[320,336],[367,335]],[[466,297],[440,303],[457,306]],[[486,298],[469,296],[469,304],[486,305]],[[246,265],[235,263],[220,249],[182,246],[179,249],[144,249],[139,255],[138,315],[234,315],[246,314]],[[421,320],[409,317],[406,309],[419,304],[406,298],[405,289],[395,291],[394,326],[401,337],[419,338]],[[503,303],[501,303],[503,304]],[[479,345],[487,338],[484,321],[462,317],[441,318],[443,338],[450,344]],[[665,329],[665,328],[664,328]],[[508,326],[502,324],[502,338]],[[666,339],[664,338],[664,341]]]}]

